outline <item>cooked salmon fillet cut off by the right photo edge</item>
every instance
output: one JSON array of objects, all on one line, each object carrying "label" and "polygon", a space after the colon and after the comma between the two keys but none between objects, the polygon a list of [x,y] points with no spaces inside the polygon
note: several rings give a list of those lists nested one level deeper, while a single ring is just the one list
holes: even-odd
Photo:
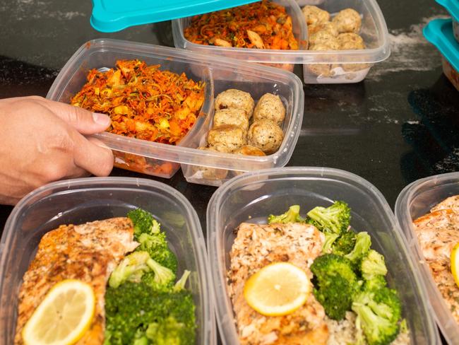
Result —
[{"label": "cooked salmon fillet cut off by the right photo edge", "polygon": [[459,323],[459,288],[450,264],[451,250],[459,242],[459,196],[441,201],[413,223],[436,286]]}]

